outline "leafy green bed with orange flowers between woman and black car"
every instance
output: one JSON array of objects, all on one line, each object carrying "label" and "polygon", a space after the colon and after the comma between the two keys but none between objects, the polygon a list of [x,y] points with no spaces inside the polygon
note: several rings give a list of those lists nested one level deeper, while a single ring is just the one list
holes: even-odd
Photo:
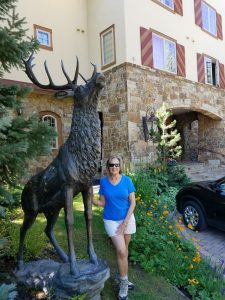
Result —
[{"label": "leafy green bed with orange flowers between woman and black car", "polygon": [[[164,276],[178,288],[185,289],[192,299],[222,300],[224,279],[201,257],[198,247],[184,240],[181,235],[184,225],[171,213],[175,208],[177,187],[185,177],[174,183],[172,175],[168,180],[166,172],[162,171],[163,176],[156,173],[155,177],[148,172],[142,177],[139,172],[132,175],[137,195],[137,233],[131,242],[131,260],[147,271]],[[159,178],[165,182],[159,185]],[[160,188],[162,191],[163,186],[167,186],[166,190],[158,195],[157,191]]]}]

